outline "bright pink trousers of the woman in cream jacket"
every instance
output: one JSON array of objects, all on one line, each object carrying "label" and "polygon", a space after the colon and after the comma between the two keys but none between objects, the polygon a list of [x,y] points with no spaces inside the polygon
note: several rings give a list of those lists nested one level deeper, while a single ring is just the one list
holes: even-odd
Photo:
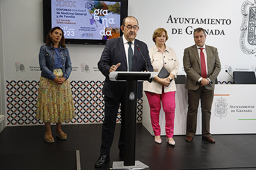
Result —
[{"label": "bright pink trousers of the woman in cream jacket", "polygon": [[174,117],[175,117],[175,91],[162,94],[145,91],[150,107],[151,124],[155,136],[160,136],[159,114],[161,110],[161,101],[166,119],[166,137],[173,137]]}]

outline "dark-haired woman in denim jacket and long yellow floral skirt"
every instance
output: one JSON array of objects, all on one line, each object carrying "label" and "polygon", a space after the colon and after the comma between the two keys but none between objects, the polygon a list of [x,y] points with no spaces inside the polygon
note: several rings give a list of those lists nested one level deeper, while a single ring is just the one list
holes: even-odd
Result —
[{"label": "dark-haired woman in denim jacket and long yellow floral skirt", "polygon": [[41,78],[36,119],[44,121],[46,142],[54,142],[51,122],[56,123],[56,135],[60,139],[67,139],[67,134],[61,130],[61,123],[73,119],[75,109],[68,80],[71,73],[70,55],[60,27],[49,31],[46,45],[40,48],[39,65]]}]

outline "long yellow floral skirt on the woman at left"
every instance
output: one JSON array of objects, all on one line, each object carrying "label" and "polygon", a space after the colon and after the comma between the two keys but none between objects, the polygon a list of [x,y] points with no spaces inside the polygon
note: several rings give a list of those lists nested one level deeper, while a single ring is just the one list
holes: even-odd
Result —
[{"label": "long yellow floral skirt on the woman at left", "polygon": [[[62,68],[54,69],[55,77],[63,77]],[[70,82],[67,79],[62,85],[53,80],[40,78],[36,119],[44,122],[64,122],[75,117]]]}]

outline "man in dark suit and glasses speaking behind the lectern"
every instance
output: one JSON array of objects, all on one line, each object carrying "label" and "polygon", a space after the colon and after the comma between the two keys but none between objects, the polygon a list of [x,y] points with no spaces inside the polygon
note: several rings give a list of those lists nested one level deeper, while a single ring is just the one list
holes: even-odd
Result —
[{"label": "man in dark suit and glasses speaking behind the lectern", "polygon": [[[102,167],[109,160],[110,148],[116,127],[116,117],[121,103],[121,132],[119,136],[119,156],[124,156],[124,119],[126,82],[110,81],[111,71],[154,71],[148,55],[147,45],[136,40],[138,21],[129,16],[121,26],[123,36],[108,40],[98,62],[98,68],[106,77],[102,93],[105,102],[105,117],[102,125],[100,156],[95,167]],[[141,52],[140,52],[140,51]],[[142,55],[143,54],[143,55]],[[145,58],[145,60],[143,59]],[[137,98],[142,97],[142,82],[138,82]]]}]

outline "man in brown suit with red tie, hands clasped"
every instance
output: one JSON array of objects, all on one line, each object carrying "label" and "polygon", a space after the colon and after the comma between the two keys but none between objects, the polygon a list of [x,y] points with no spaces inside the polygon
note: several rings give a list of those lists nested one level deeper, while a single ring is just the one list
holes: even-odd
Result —
[{"label": "man in brown suit with red tie, hands clasped", "polygon": [[184,50],[183,66],[188,89],[188,113],[186,122],[186,142],[192,142],[196,132],[197,113],[201,99],[202,139],[215,143],[210,133],[210,118],[215,79],[221,71],[217,48],[205,45],[203,28],[194,30],[195,45]]}]

